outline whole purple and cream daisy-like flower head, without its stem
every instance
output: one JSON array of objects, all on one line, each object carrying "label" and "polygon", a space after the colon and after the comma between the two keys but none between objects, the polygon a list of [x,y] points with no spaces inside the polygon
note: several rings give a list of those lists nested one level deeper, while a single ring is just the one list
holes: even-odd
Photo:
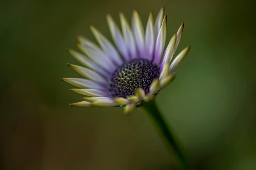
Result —
[{"label": "whole purple and cream daisy-like flower head, without its stem", "polygon": [[161,8],[155,20],[150,12],[144,32],[137,10],[133,11],[131,28],[120,13],[122,33],[110,14],[107,22],[116,48],[94,26],[90,28],[99,46],[78,36],[77,47],[85,54],[67,51],[85,67],[68,64],[84,78],[60,78],[78,87],[69,91],[85,95],[83,101],[70,106],[124,106],[128,114],[135,107],[150,102],[175,77],[174,70],[186,57],[190,47],[182,50],[171,62],[179,45],[184,23],[165,50],[167,16]]}]

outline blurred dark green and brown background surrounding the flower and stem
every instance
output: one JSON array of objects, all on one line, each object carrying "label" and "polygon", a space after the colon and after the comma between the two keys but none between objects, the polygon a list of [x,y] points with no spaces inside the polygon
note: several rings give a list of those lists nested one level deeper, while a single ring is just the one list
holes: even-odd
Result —
[{"label": "blurred dark green and brown background surrounding the flower and stem", "polygon": [[[80,95],[60,77],[81,77],[77,35],[88,24],[111,39],[137,7],[167,14],[167,39],[185,22],[177,53],[191,45],[157,103],[195,169],[256,169],[255,4],[253,1],[0,2],[0,167],[26,170],[167,170],[173,157],[141,109],[70,107]],[[111,40],[112,41],[112,40]]]}]

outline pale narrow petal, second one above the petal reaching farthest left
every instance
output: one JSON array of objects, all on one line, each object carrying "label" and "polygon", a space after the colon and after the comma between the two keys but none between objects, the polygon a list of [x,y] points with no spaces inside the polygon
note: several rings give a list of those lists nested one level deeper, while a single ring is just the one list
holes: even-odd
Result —
[{"label": "pale narrow petal, second one above the petal reaching farthest left", "polygon": [[88,68],[91,68],[92,70],[95,70],[96,72],[102,74],[103,76],[109,77],[109,74],[104,71],[101,67],[96,65],[94,62],[92,62],[90,59],[88,59],[85,55],[81,54],[80,52],[68,49],[67,50],[69,54],[71,54],[77,61],[82,63]]}]

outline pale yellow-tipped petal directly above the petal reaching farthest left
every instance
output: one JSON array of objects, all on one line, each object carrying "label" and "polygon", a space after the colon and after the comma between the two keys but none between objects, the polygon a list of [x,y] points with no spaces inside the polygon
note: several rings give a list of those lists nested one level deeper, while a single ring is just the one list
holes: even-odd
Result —
[{"label": "pale yellow-tipped petal directly above the petal reaching farthest left", "polygon": [[99,84],[109,85],[107,80],[102,78],[99,74],[95,73],[93,70],[90,70],[88,68],[81,67],[78,65],[74,65],[74,64],[68,64],[68,66],[70,66],[72,69],[74,69],[77,73],[81,74],[85,78],[93,80]]}]

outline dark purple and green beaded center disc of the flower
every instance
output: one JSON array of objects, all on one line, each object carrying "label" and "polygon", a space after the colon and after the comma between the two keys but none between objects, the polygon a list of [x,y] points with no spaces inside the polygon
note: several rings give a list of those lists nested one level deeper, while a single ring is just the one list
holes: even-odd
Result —
[{"label": "dark purple and green beaded center disc of the flower", "polygon": [[134,95],[137,88],[148,93],[151,82],[158,76],[159,68],[152,61],[134,59],[114,71],[109,91],[113,97],[123,98]]}]

